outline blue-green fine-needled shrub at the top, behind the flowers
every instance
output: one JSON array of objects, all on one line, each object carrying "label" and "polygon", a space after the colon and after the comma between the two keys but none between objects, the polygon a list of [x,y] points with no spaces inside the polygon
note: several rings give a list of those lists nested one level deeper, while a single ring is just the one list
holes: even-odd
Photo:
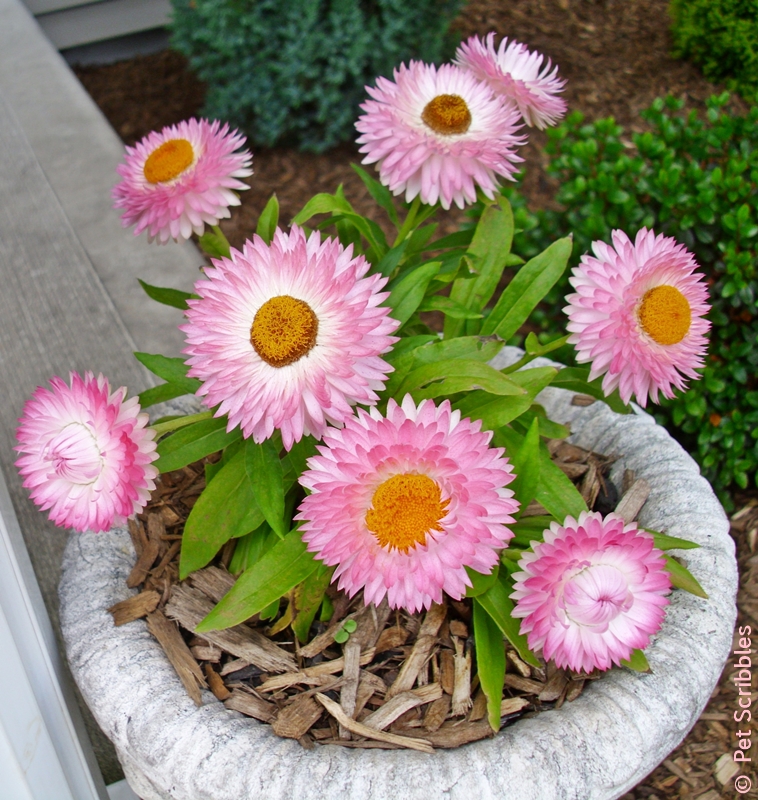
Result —
[{"label": "blue-green fine-needled shrub at the top, behind the flowers", "polygon": [[355,138],[365,85],[439,63],[463,0],[172,0],[172,46],[207,84],[203,113],[257,145]]}]

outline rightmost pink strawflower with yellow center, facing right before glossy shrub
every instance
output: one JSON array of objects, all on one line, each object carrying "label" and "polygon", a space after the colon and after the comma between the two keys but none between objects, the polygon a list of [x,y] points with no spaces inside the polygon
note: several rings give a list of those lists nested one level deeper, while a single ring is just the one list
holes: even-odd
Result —
[{"label": "rightmost pink strawflower with yellow center, facing right before glossy shrub", "polygon": [[[634,244],[613,231],[613,247],[594,242],[595,256],[582,256],[566,297],[569,342],[577,361],[591,362],[606,395],[618,387],[628,403],[645,406],[658,392],[673,397],[688,378],[700,377],[710,322],[703,276],[692,254],[671,237],[642,228]],[[677,371],[678,370],[678,371]],[[680,374],[681,373],[681,374]]]}]

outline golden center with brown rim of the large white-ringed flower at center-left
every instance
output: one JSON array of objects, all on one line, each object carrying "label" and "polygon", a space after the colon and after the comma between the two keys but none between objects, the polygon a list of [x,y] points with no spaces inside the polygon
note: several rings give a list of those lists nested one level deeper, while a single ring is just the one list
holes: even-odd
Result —
[{"label": "golden center with brown rim of the large white-ringed flower at center-left", "polygon": [[250,328],[255,352],[272,367],[286,367],[316,344],[318,318],[303,300],[272,297],[259,309]]}]

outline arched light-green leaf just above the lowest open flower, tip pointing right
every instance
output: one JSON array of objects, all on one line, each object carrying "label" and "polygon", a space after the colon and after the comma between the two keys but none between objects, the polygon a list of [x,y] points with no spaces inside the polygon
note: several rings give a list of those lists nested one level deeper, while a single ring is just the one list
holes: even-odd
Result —
[{"label": "arched light-green leaf just above the lowest open flower, tip pointing right", "polygon": [[489,364],[469,359],[449,359],[414,369],[400,384],[397,396],[403,397],[406,392],[412,392],[418,402],[426,397],[467,392],[474,388],[495,395],[526,394],[507,375]]}]

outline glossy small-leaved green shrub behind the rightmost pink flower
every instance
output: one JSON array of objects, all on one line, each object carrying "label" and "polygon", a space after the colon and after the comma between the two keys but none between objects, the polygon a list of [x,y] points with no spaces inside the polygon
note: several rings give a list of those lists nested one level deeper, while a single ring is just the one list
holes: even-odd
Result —
[{"label": "glossy small-leaved green shrub behind the rightmost pink flower", "polygon": [[[631,141],[613,119],[585,125],[580,114],[549,131],[548,172],[560,183],[560,212],[530,213],[514,202],[522,232],[514,249],[531,256],[574,232],[574,259],[619,228],[674,236],[694,254],[709,284],[710,347],[703,379],[658,409],[699,462],[722,500],[727,488],[758,486],[758,108],[747,116],[713,97],[705,117],[658,99],[643,112],[651,130]],[[555,327],[567,281],[552,295],[544,325]],[[560,323],[559,323],[560,324]],[[552,326],[552,330],[551,330]]]}]

